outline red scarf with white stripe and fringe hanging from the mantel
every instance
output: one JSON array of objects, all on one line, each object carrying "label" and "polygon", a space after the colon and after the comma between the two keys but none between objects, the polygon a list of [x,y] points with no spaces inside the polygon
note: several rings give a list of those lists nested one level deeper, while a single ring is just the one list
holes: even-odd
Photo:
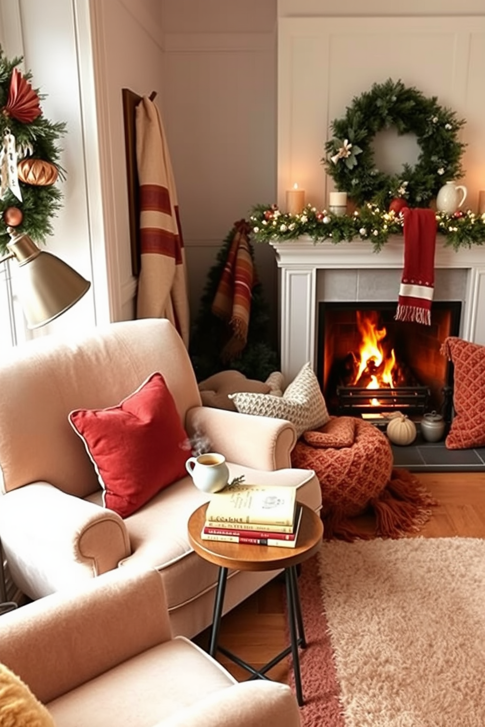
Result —
[{"label": "red scarf with white stripe and fringe hanging from the mantel", "polygon": [[436,215],[432,209],[403,209],[404,270],[396,321],[431,324],[434,290]]}]

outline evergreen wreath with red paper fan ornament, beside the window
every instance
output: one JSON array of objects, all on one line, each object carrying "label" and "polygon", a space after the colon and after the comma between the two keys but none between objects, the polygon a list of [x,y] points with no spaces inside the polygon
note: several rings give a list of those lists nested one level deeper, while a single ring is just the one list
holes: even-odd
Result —
[{"label": "evergreen wreath with red paper fan ornament, beside the window", "polygon": [[63,197],[55,181],[65,178],[57,145],[65,123],[43,116],[45,96],[31,87],[30,71],[17,69],[22,61],[7,60],[0,47],[0,254],[10,239],[7,226],[44,243]]}]

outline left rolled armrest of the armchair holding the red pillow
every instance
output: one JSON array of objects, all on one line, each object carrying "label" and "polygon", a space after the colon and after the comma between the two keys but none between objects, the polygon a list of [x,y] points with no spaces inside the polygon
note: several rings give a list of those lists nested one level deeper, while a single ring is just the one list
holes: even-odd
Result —
[{"label": "left rolled armrest of the armchair holding the red pillow", "polygon": [[47,482],[1,498],[0,537],[12,579],[31,598],[110,571],[131,553],[119,515]]}]

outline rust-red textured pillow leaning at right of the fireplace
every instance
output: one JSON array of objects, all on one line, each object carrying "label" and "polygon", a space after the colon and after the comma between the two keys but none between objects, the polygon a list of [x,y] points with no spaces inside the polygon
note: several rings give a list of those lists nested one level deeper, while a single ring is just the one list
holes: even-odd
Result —
[{"label": "rust-red textured pillow leaning at right of the fireplace", "polygon": [[441,353],[454,364],[455,415],[446,448],[485,446],[485,346],[451,336]]}]

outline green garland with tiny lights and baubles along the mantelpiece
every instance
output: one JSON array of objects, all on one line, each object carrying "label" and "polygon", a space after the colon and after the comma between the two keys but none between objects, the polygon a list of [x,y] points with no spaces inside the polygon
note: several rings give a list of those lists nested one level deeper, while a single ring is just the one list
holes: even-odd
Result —
[{"label": "green garland with tiny lights and baubles along the mantelpiece", "polygon": [[[401,235],[403,217],[392,210],[387,212],[376,204],[364,204],[353,214],[342,217],[306,206],[302,214],[284,214],[276,205],[258,205],[249,218],[255,242],[284,242],[298,237],[309,237],[313,242],[324,240],[370,241],[374,252],[379,252],[391,235]],[[436,212],[438,234],[445,244],[456,251],[460,247],[485,244],[485,214]]]}]

